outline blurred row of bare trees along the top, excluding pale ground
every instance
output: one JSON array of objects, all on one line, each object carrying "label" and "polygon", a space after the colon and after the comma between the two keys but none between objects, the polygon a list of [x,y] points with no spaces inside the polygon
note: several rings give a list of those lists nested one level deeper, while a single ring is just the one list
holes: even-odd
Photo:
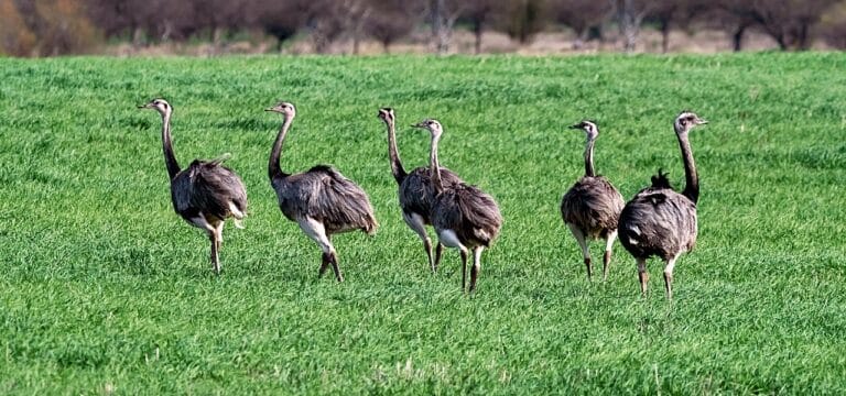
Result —
[{"label": "blurred row of bare trees along the top, excluding pale ground", "polygon": [[525,44],[560,26],[573,31],[576,50],[612,29],[620,50],[634,51],[643,26],[661,33],[663,51],[671,30],[704,29],[725,31],[735,51],[752,30],[784,51],[816,38],[846,48],[846,0],[0,0],[0,54],[78,54],[105,42],[220,46],[243,32],[274,37],[279,50],[302,36],[316,53],[345,40],[356,54],[362,41],[389,52],[415,30],[446,53],[456,29],[473,32],[479,53],[484,32]]}]

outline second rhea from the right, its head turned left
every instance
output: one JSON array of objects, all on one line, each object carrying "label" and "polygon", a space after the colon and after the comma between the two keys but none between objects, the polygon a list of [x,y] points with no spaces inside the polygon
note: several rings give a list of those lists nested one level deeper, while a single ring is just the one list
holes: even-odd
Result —
[{"label": "second rhea from the right, its head turned left", "polygon": [[587,136],[585,176],[578,179],[562,198],[561,217],[582,248],[588,279],[593,272],[588,241],[599,238],[605,240],[603,280],[606,280],[611,262],[611,246],[617,238],[617,220],[625,202],[617,188],[605,176],[599,176],[594,170],[594,143],[599,135],[596,123],[582,121],[570,128],[583,130]]}]

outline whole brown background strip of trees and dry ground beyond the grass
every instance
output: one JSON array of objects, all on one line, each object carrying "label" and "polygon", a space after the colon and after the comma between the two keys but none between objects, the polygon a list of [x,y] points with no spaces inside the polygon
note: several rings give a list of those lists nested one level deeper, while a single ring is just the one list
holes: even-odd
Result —
[{"label": "whole brown background strip of trees and dry ground beyond the grass", "polygon": [[846,0],[0,0],[0,54],[846,48]]}]

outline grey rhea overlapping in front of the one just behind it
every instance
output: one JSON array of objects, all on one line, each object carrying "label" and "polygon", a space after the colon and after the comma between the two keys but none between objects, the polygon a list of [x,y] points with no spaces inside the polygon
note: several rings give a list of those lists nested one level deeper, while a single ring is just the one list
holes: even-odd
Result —
[{"label": "grey rhea overlapping in front of the one just behind it", "polygon": [[473,252],[470,286],[476,289],[476,279],[481,268],[481,252],[499,235],[502,215],[491,196],[476,186],[464,182],[447,186],[442,182],[437,162],[437,143],[444,132],[437,120],[427,119],[412,127],[429,130],[432,135],[430,152],[430,178],[435,191],[432,204],[432,224],[438,243],[458,249],[462,255],[462,290],[467,287],[467,255]]}]

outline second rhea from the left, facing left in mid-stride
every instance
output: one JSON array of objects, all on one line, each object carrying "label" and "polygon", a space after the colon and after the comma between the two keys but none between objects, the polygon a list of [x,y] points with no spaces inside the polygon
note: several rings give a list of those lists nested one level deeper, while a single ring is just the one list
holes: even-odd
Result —
[{"label": "second rhea from the left, facing left in mid-stride", "polygon": [[317,165],[294,175],[282,172],[282,143],[296,109],[289,102],[280,102],[265,111],[278,112],[283,119],[268,164],[268,176],[276,191],[279,208],[285,218],[300,224],[303,232],[321,246],[323,255],[318,276],[323,276],[332,264],[335,278],[344,282],[332,235],[355,230],[370,235],[376,233],[378,223],[370,199],[361,187],[328,165]]}]

